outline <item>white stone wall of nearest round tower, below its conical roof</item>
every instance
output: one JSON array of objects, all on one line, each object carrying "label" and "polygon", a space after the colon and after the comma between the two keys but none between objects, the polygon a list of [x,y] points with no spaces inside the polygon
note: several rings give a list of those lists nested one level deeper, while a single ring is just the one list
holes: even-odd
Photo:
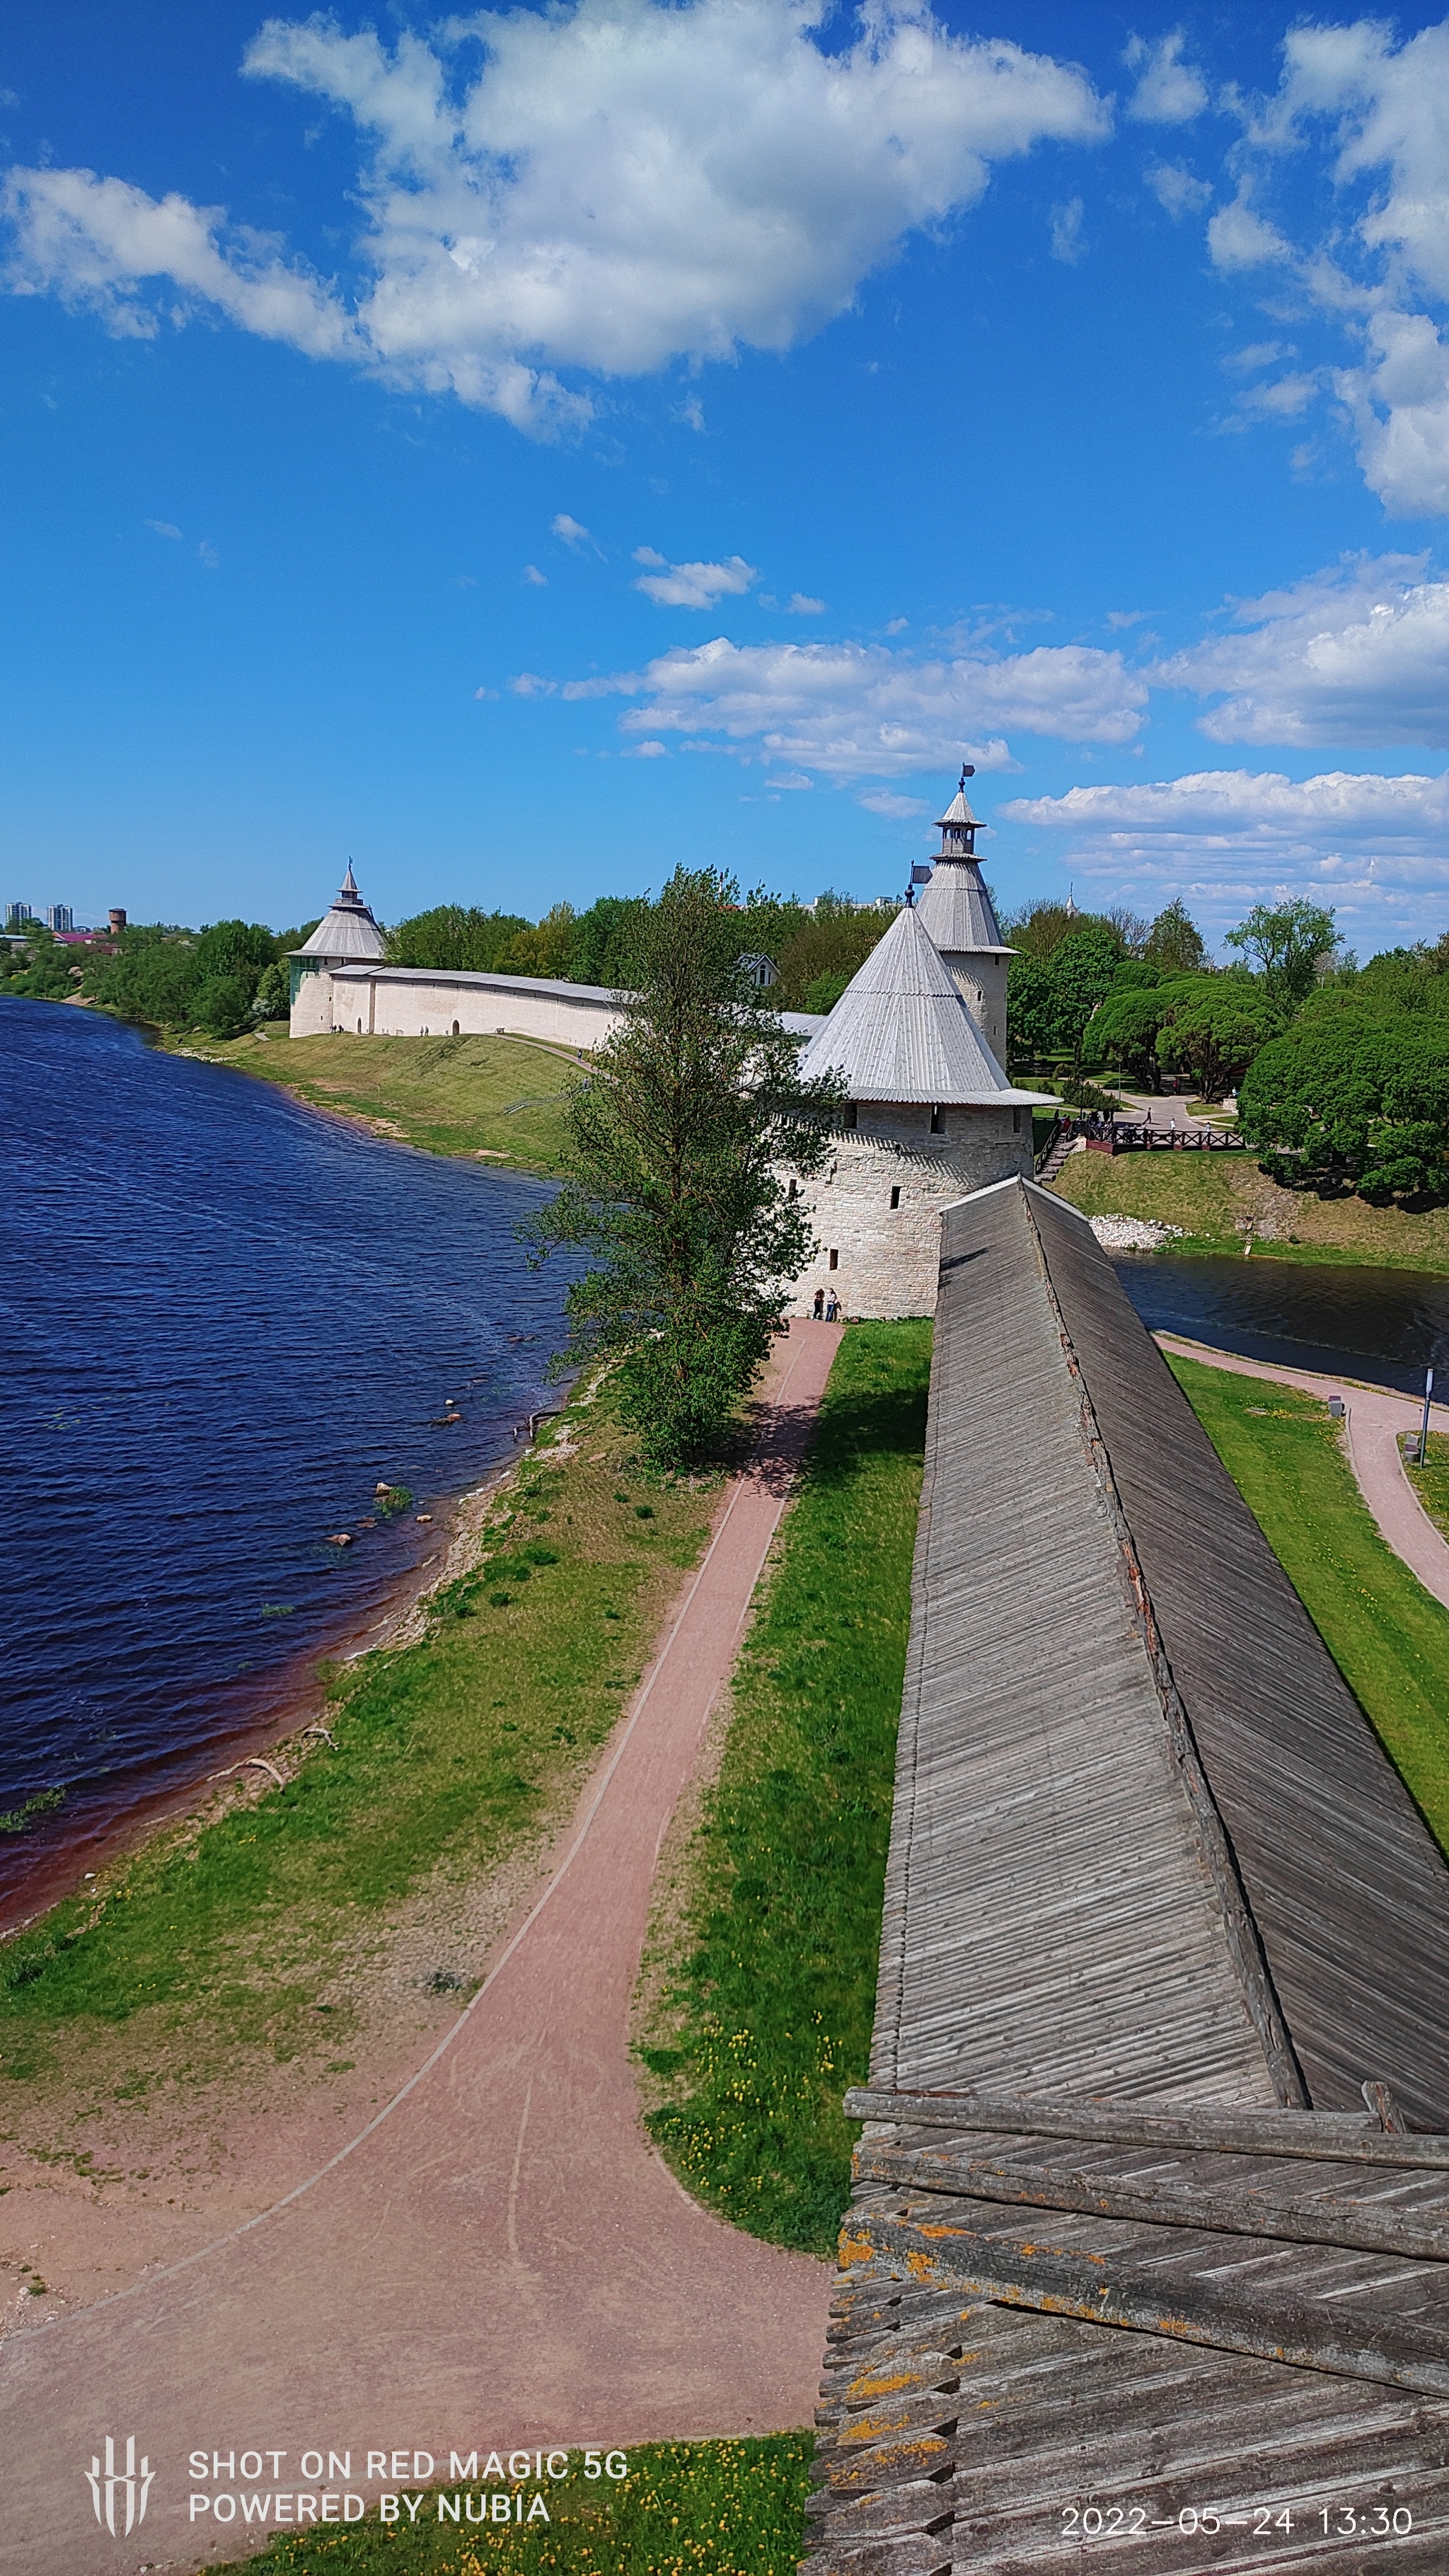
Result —
[{"label": "white stone wall of nearest round tower, below its conical roof", "polygon": [[928,1108],[861,1103],[856,1115],[825,1172],[802,1182],[820,1247],[789,1311],[812,1314],[825,1288],[846,1316],[936,1314],[941,1208],[1013,1172],[1031,1177],[1031,1110],[941,1110],[938,1136]]}]

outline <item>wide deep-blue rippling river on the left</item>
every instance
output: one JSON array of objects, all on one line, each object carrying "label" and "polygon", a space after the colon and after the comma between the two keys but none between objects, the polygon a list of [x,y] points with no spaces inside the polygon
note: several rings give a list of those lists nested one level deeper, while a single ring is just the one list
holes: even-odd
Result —
[{"label": "wide deep-blue rippling river on the left", "polygon": [[[413,1512],[549,1401],[565,1278],[513,1239],[544,1182],[374,1144],[90,1012],[0,1002],[0,1121],[13,1901],[384,1613],[443,1535]],[[379,1479],[415,1502],[369,1530]]]}]

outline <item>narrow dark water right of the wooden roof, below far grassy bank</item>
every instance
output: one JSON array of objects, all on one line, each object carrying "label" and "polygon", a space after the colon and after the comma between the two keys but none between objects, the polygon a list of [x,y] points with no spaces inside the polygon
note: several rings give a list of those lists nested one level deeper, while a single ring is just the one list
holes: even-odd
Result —
[{"label": "narrow dark water right of the wooden roof, below far grassy bank", "polygon": [[1449,1280],[1423,1270],[1122,1252],[1116,1275],[1150,1332],[1410,1394],[1434,1363],[1449,1391]]}]

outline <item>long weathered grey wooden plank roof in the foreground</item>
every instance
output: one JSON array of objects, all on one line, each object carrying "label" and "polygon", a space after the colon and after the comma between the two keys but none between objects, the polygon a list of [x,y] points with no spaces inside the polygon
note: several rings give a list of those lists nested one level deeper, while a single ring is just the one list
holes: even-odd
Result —
[{"label": "long weathered grey wooden plank roof in the foreground", "polygon": [[1449,2566],[1449,1873],[1029,1182],[944,1221],[848,2110],[812,2576]]}]

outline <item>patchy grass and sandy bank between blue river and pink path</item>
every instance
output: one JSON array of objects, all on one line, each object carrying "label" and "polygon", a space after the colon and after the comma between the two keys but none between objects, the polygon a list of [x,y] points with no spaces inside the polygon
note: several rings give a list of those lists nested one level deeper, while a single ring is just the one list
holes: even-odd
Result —
[{"label": "patchy grass and sandy bank between blue river and pink path", "polygon": [[[575,1401],[415,1633],[0,1971],[5,2308],[90,2303],[268,2208],[456,2020],[704,1540]],[[46,2306],[36,2311],[34,2300]]]}]

